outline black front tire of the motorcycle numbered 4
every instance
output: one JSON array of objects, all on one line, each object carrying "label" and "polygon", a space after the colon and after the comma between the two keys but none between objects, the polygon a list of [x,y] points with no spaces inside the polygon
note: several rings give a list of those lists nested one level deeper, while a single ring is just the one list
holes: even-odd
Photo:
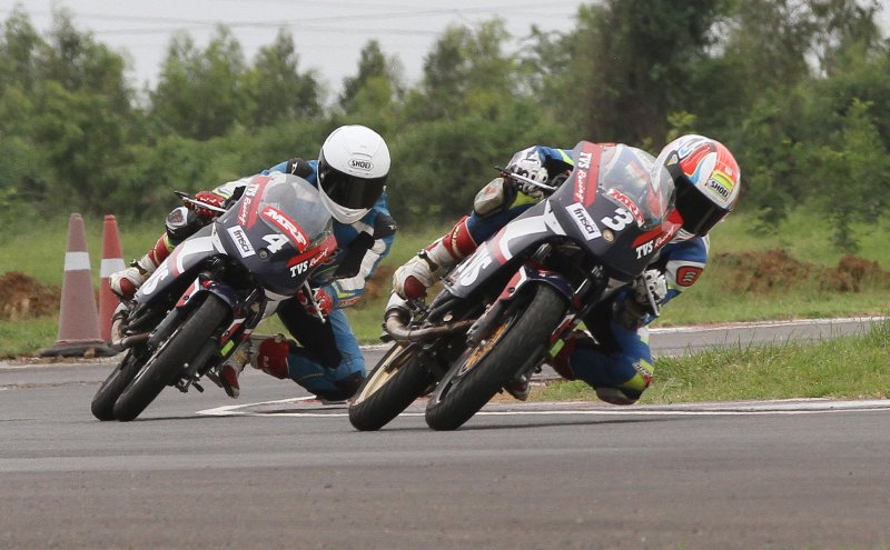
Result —
[{"label": "black front tire of the motorcycle numbered 4", "polygon": [[115,403],[115,418],[128,422],[138,417],[170,384],[182,366],[198,353],[229,313],[229,307],[214,294],[191,312],[161,343],[136,379]]}]

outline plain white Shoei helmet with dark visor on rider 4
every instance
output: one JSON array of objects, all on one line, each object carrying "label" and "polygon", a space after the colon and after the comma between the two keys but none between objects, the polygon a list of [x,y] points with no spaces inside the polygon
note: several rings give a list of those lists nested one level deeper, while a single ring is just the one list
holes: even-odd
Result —
[{"label": "plain white Shoei helmet with dark visor on rider 4", "polygon": [[322,202],[335,220],[355,223],[383,194],[389,174],[389,149],[380,134],[364,126],[330,132],[318,154]]}]

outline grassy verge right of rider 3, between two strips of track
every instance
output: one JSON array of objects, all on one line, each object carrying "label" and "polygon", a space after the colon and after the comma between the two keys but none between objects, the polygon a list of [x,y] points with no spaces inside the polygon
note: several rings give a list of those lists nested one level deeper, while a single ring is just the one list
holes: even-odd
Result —
[{"label": "grassy verge right of rider 3, between two strips of track", "polygon": [[[791,398],[890,398],[890,322],[814,344],[725,348],[661,358],[641,404]],[[538,401],[595,400],[580,381],[535,388]]]}]

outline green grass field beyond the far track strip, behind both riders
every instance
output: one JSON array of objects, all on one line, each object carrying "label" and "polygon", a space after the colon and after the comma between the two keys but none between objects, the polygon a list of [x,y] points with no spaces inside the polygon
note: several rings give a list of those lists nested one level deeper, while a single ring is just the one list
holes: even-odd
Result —
[{"label": "green grass field beyond the far track strip, behind both riders", "polygon": [[[101,261],[102,218],[85,217],[92,277],[99,282]],[[843,256],[830,246],[830,232],[801,210],[790,217],[778,230],[753,234],[750,216],[729,218],[712,232],[712,254],[721,252],[767,251],[784,249],[794,259],[819,266],[834,266]],[[162,220],[128,223],[118,220],[123,259],[141,256],[155,243],[162,230]],[[380,317],[388,297],[389,278],[399,266],[434,238],[447,230],[449,223],[436,222],[425,227],[403,228],[396,237],[389,257],[379,269],[376,289],[368,293],[348,314],[356,336],[366,343],[378,342]],[[27,234],[9,234],[0,243],[0,272],[17,270],[46,284],[61,286],[68,218],[50,220]],[[886,246],[886,227],[863,232],[859,256],[877,261],[883,269],[890,266],[890,248]],[[882,238],[883,236],[883,238]],[[731,283],[738,277],[731,268],[712,262],[701,280],[680,299],[664,308],[655,326],[700,324],[723,321],[752,321],[769,319],[822,318],[857,314],[887,314],[890,311],[890,292],[880,286],[863,288],[859,292],[830,292],[820,290],[818,281],[791,281],[767,293],[739,293]],[[52,331],[40,330],[41,323],[52,324],[53,319],[21,323],[11,328],[11,321],[0,321],[7,334],[0,341],[0,357],[27,353],[53,342]],[[31,327],[28,329],[28,327]],[[265,322],[263,332],[279,332],[283,327],[275,319]]]}]

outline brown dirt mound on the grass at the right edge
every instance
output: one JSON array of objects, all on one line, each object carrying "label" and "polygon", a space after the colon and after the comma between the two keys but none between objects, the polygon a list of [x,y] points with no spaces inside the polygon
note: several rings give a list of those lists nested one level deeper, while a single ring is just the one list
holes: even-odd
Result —
[{"label": "brown dirt mound on the grass at the right edge", "polygon": [[714,267],[729,269],[729,287],[736,292],[767,294],[784,291],[802,281],[813,281],[820,290],[859,292],[863,289],[890,289],[890,271],[877,261],[844,256],[835,267],[802,262],[785,250],[763,252],[724,252],[714,257]]}]

